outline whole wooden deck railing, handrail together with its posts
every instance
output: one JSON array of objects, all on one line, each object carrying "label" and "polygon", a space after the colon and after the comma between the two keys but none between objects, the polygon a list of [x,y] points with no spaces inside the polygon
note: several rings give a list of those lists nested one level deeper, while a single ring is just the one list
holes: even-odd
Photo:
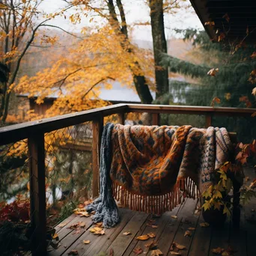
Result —
[{"label": "whole wooden deck railing, handrail together with its posts", "polygon": [[36,249],[33,253],[34,255],[45,255],[46,253],[45,133],[92,121],[92,192],[95,197],[99,193],[99,148],[100,136],[103,130],[103,118],[109,115],[118,114],[119,123],[124,124],[125,114],[128,112],[151,113],[153,117],[153,125],[159,125],[160,114],[204,115],[206,117],[205,127],[210,127],[213,116],[250,117],[252,116],[252,113],[256,112],[256,109],[118,104],[115,106],[107,106],[100,109],[60,115],[54,118],[46,118],[39,121],[31,121],[1,128],[0,146],[22,139],[28,139],[30,202],[31,213],[34,213],[31,215],[31,225],[34,228],[37,227],[34,236],[34,243],[37,245],[35,246]]}]

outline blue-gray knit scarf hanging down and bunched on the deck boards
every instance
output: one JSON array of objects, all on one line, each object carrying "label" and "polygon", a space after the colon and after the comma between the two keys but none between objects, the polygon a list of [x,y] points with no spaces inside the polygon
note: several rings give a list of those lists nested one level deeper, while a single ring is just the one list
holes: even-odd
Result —
[{"label": "blue-gray knit scarf hanging down and bunched on the deck boards", "polygon": [[100,196],[85,209],[88,213],[95,211],[94,222],[103,222],[105,228],[112,228],[120,220],[118,206],[112,195],[112,180],[109,172],[112,161],[111,138],[114,124],[108,123],[103,128],[100,147]]}]

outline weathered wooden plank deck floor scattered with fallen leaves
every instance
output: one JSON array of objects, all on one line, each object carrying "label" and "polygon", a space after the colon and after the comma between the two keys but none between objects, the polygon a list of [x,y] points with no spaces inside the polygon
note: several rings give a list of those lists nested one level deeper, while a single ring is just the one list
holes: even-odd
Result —
[{"label": "weathered wooden plank deck floor scattered with fallen leaves", "polygon": [[[255,176],[252,169],[245,170],[246,176]],[[106,229],[104,235],[97,236],[88,231],[93,225],[90,218],[72,215],[64,220],[64,227],[56,228],[58,237],[61,240],[58,249],[49,250],[50,256],[68,255],[70,251],[77,250],[78,255],[95,256],[100,252],[106,252],[107,255],[136,255],[132,252],[136,248],[141,248],[144,252],[141,255],[151,255],[151,251],[145,247],[151,241],[156,241],[159,250],[163,255],[171,255],[171,243],[176,242],[186,246],[186,250],[180,251],[181,255],[205,256],[214,255],[212,249],[221,247],[227,249],[231,246],[237,250],[236,256],[255,256],[256,246],[256,218],[254,218],[256,210],[256,199],[252,200],[241,208],[241,224],[240,231],[232,228],[231,222],[226,221],[222,228],[208,227],[202,228],[200,223],[204,222],[202,216],[194,214],[197,201],[186,199],[185,203],[176,207],[171,212],[163,214],[159,218],[153,218],[157,228],[147,225],[152,216],[146,213],[132,212],[132,210],[121,208],[121,223],[115,228]],[[177,219],[171,218],[177,216]],[[249,221],[251,220],[251,221]],[[71,230],[69,227],[77,222],[85,222],[85,228],[79,233]],[[191,231],[191,237],[184,237],[188,228],[195,228]],[[131,232],[125,236],[124,232]],[[147,241],[136,240],[135,237],[153,232],[156,237]],[[84,244],[83,240],[91,240],[91,243]],[[114,254],[111,254],[111,251]]]}]

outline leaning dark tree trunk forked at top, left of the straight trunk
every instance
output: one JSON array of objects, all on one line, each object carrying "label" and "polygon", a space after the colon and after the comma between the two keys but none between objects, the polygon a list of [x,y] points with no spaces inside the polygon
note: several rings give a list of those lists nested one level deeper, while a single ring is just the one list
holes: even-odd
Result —
[{"label": "leaning dark tree trunk forked at top, left of the straight trunk", "polygon": [[[115,6],[113,3],[113,0],[108,1],[109,14],[111,17],[109,19],[109,22],[110,22],[110,25],[112,25],[112,28],[114,28],[114,30],[117,32],[117,34],[121,33],[125,35],[126,42],[121,43],[121,46],[123,47],[123,49],[127,49],[127,51],[131,52],[132,54],[132,49],[130,47],[126,47],[127,43],[129,45],[129,37],[128,37],[127,21],[124,13],[124,7],[121,0],[116,0],[116,2],[118,5],[120,16],[121,16],[121,24],[119,23],[117,14],[115,13]],[[135,67],[136,67],[136,70],[141,70],[140,64],[138,64],[137,61],[135,62]],[[150,93],[150,89],[148,88],[145,76],[136,75],[132,67],[129,67],[129,70],[131,70],[132,72],[132,79],[133,79],[136,91],[138,93],[138,97],[141,99],[141,103],[150,104],[153,101],[153,97]]]}]

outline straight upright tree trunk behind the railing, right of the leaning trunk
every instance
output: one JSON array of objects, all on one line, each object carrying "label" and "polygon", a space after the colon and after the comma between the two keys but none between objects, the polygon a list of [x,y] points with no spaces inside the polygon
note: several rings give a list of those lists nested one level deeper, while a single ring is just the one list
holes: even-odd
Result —
[{"label": "straight upright tree trunk behind the railing, right of the leaning trunk", "polygon": [[167,43],[165,39],[165,26],[163,17],[162,0],[150,0],[150,19],[153,37],[153,55],[155,60],[156,76],[156,97],[167,94],[168,89],[168,69],[160,64],[161,53],[167,53]]}]

